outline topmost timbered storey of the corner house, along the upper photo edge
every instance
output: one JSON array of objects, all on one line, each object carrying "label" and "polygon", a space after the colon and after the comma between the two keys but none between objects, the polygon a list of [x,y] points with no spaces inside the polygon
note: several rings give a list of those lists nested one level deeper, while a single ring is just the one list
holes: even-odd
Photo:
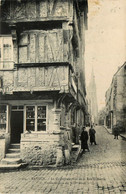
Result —
[{"label": "topmost timbered storey of the corner house, along the upper photo edge", "polygon": [[73,5],[87,14],[87,0],[2,0],[2,19],[13,23],[73,19]]}]

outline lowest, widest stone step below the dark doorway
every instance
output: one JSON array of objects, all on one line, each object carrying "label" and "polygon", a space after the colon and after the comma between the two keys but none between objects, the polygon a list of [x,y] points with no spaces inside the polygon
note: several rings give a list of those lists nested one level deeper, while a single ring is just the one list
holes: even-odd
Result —
[{"label": "lowest, widest stone step below the dark doorway", "polygon": [[17,170],[20,168],[25,168],[27,166],[26,163],[20,163],[20,164],[0,164],[0,170]]}]

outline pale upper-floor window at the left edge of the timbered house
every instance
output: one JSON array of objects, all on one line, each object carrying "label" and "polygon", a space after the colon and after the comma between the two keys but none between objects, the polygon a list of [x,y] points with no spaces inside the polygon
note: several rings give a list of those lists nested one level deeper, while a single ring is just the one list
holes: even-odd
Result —
[{"label": "pale upper-floor window at the left edge of the timbered house", "polygon": [[11,36],[0,37],[0,69],[13,68],[13,43]]}]

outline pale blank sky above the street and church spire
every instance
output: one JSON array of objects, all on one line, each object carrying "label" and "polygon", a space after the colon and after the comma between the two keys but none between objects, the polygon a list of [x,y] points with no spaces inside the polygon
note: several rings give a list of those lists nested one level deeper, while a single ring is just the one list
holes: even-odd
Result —
[{"label": "pale blank sky above the street and church spire", "polygon": [[85,72],[88,86],[94,69],[98,109],[105,106],[105,92],[112,77],[126,61],[126,0],[88,0],[85,33]]}]

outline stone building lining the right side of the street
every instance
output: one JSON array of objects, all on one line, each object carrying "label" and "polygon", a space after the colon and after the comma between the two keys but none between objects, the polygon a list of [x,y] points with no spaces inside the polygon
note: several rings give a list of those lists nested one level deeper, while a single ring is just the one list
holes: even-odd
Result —
[{"label": "stone building lining the right side of the street", "polygon": [[114,74],[112,83],[106,91],[106,125],[118,125],[126,132],[126,63]]}]

